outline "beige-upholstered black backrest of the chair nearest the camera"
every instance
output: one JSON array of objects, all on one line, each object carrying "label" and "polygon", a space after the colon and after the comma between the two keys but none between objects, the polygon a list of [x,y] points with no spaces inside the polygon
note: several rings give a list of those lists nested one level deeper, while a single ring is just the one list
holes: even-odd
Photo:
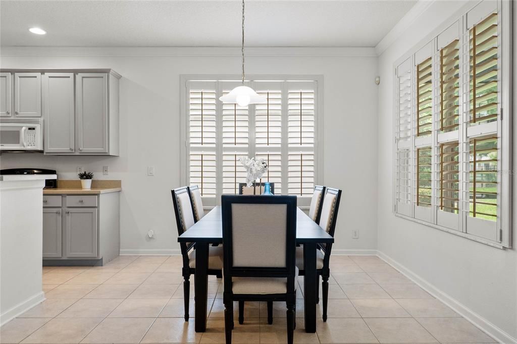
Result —
[{"label": "beige-upholstered black backrest of the chair nearest the camera", "polygon": [[223,195],[221,208],[225,292],[232,277],[287,277],[294,292],[296,196]]}]

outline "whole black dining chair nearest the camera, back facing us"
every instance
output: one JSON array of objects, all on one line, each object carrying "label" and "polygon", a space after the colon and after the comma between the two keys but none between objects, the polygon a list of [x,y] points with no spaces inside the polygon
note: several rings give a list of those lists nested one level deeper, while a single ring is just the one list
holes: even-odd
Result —
[{"label": "whole black dining chair nearest the camera, back facing us", "polygon": [[268,322],[272,302],[285,302],[287,343],[292,344],[298,279],[296,196],[223,195],[221,208],[226,344],[232,342],[234,301],[239,312],[244,301],[267,302]]}]

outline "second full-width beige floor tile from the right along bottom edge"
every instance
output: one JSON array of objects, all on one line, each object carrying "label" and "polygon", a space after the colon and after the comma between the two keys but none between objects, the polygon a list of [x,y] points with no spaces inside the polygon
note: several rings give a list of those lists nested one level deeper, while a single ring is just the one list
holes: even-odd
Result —
[{"label": "second full-width beige floor tile from the right along bottom edge", "polygon": [[381,343],[436,343],[436,339],[415,319],[364,319]]}]

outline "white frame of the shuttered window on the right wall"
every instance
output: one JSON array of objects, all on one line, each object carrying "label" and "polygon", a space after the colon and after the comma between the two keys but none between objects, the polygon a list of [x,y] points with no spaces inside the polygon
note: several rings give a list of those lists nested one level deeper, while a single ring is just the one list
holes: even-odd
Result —
[{"label": "white frame of the shuttered window on the right wall", "polygon": [[[462,161],[462,155],[464,155],[463,147],[462,145],[465,145],[465,143],[469,142],[471,138],[480,138],[483,137],[481,135],[467,135],[467,128],[465,127],[465,116],[469,113],[469,108],[465,107],[465,103],[468,103],[468,92],[469,89],[465,88],[465,85],[469,84],[468,81],[468,66],[469,61],[468,59],[465,60],[465,53],[464,53],[464,40],[465,37],[468,36],[469,33],[469,26],[467,26],[467,22],[479,22],[479,20],[476,20],[476,16],[483,15],[486,8],[490,8],[491,4],[496,3],[497,13],[498,13],[498,24],[499,24],[499,30],[498,30],[498,43],[499,43],[499,52],[498,52],[498,68],[499,68],[499,88],[500,88],[500,103],[499,103],[499,116],[497,120],[497,134],[501,135],[499,138],[499,154],[500,156],[498,159],[500,160],[500,165],[498,166],[498,181],[500,184],[500,195],[498,196],[498,199],[500,199],[500,208],[498,208],[498,218],[496,223],[496,235],[495,239],[488,239],[485,237],[476,236],[475,234],[472,234],[468,231],[466,228],[467,222],[469,222],[468,214],[465,216],[464,211],[463,213],[459,214],[459,224],[458,228],[449,228],[445,225],[439,225],[438,221],[438,211],[436,210],[436,207],[439,208],[439,189],[435,186],[435,176],[436,176],[436,159],[437,159],[437,153],[436,153],[436,147],[439,147],[440,144],[444,143],[450,143],[454,140],[457,140],[460,144],[460,164],[464,164]],[[488,10],[489,11],[489,10]],[[488,12],[487,12],[488,13]],[[470,18],[467,20],[467,15],[471,15]],[[486,17],[486,16],[485,16]],[[398,147],[398,116],[399,116],[399,95],[397,92],[397,87],[399,87],[399,76],[398,76],[398,69],[400,66],[404,64],[408,59],[412,61],[412,66],[416,66],[417,58],[415,57],[418,52],[425,48],[427,45],[432,44],[433,45],[433,73],[438,72],[440,65],[439,65],[439,50],[442,49],[442,46],[439,46],[438,44],[441,44],[443,46],[446,46],[447,44],[442,44],[439,42],[440,36],[445,34],[446,32],[451,30],[451,27],[455,25],[457,29],[457,36],[458,39],[460,39],[460,126],[457,130],[458,134],[450,134],[450,132],[446,133],[440,133],[439,129],[439,108],[441,104],[439,103],[439,92],[438,87],[436,86],[436,76],[433,76],[433,133],[432,133],[432,149],[433,149],[433,198],[432,198],[432,217],[428,220],[422,220],[419,219],[418,216],[415,214],[415,210],[413,209],[413,212],[410,213],[401,213],[398,211],[397,207],[397,171],[398,171],[398,163],[397,163],[397,154],[400,150],[400,147]],[[472,25],[471,25],[472,26]],[[456,34],[455,34],[456,35]],[[435,29],[432,30],[432,32],[425,36],[423,39],[419,41],[418,44],[416,44],[412,49],[410,49],[408,52],[406,52],[404,55],[402,55],[400,58],[398,58],[394,64],[393,64],[393,133],[394,133],[394,140],[393,140],[393,157],[392,157],[392,163],[393,163],[393,207],[392,212],[394,215],[398,217],[405,218],[406,220],[414,221],[423,225],[427,225],[432,228],[440,229],[446,232],[450,232],[453,234],[456,234],[461,237],[465,237],[467,239],[471,239],[477,242],[481,242],[483,244],[487,244],[490,246],[494,246],[497,248],[505,249],[505,248],[511,248],[512,247],[512,199],[511,199],[511,183],[512,183],[512,102],[511,102],[511,91],[512,91],[512,4],[511,2],[496,0],[494,2],[489,3],[488,1],[479,1],[474,4],[469,3],[463,6],[460,10],[453,13],[450,17],[448,17],[442,24],[436,26]],[[445,36],[450,36],[450,32],[447,33]],[[468,41],[467,41],[468,43]],[[468,48],[468,44],[467,44]],[[467,50],[468,51],[468,50]],[[438,58],[436,58],[438,57]],[[436,61],[435,61],[436,60]],[[436,67],[437,66],[437,67]],[[414,68],[414,67],[413,67]],[[413,69],[411,71],[412,73],[412,84],[415,83],[415,70]],[[438,73],[439,74],[439,73]],[[466,74],[466,76],[465,76]],[[467,95],[467,96],[465,96]],[[416,120],[415,114],[415,97],[412,95],[412,122]],[[438,119],[438,120],[437,120]],[[437,127],[438,125],[438,127]],[[413,157],[415,157],[415,152],[417,148],[419,148],[419,145],[415,140],[418,140],[417,136],[415,135],[414,127],[415,125],[412,125],[413,132],[412,132],[412,145],[409,147],[409,151],[413,152]],[[439,154],[438,154],[439,155]],[[439,157],[438,157],[439,158]],[[412,166],[414,169],[414,164]],[[468,168],[465,169],[465,167],[460,168],[460,204],[466,204],[466,207],[468,207],[468,198],[465,200],[465,196],[463,196],[463,192],[465,192],[465,185],[468,185],[468,181],[465,182],[464,175],[465,173],[468,174]],[[413,178],[412,183],[415,183],[415,180]],[[463,185],[464,184],[464,185]],[[468,191],[468,189],[467,189]],[[411,199],[413,204],[415,203],[414,195],[411,195]],[[438,204],[437,204],[438,202]],[[465,205],[463,205],[463,208]],[[460,206],[460,209],[462,209],[462,206]],[[468,208],[466,208],[468,210]],[[453,220],[453,219],[452,219]],[[475,232],[474,229],[476,226],[472,228],[472,231]],[[488,227],[488,226],[487,226]]]}]

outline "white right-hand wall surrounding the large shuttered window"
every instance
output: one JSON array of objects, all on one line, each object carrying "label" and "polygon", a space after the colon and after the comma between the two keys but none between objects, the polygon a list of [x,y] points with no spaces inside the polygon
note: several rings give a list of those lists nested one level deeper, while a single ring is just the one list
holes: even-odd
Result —
[{"label": "white right-hand wall surrounding the large shuttered window", "polygon": [[[392,213],[393,63],[446,19],[443,13],[452,13],[462,5],[461,2],[433,3],[379,56],[382,83],[378,93],[378,250],[400,268],[407,269],[406,273],[421,278],[420,282],[428,288],[443,293],[449,304],[485,330],[504,342],[513,342],[511,337],[517,338],[515,249],[487,246]],[[516,34],[514,42],[515,37]],[[514,138],[516,133],[514,130]],[[515,151],[513,157],[517,158]],[[513,182],[516,181],[514,176]],[[516,196],[514,192],[514,233]]]}]

